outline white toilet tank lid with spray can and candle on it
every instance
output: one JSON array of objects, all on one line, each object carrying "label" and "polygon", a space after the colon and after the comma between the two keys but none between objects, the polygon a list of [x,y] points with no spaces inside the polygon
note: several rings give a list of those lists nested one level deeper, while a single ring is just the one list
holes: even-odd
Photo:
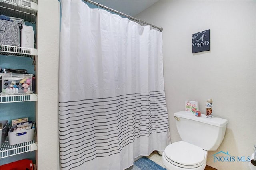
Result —
[{"label": "white toilet tank lid with spray can and candle on it", "polygon": [[195,116],[192,112],[186,112],[186,111],[176,112],[174,113],[174,116],[185,118],[185,119],[191,119],[191,120],[202,122],[202,123],[207,123],[217,127],[224,127],[228,123],[227,119],[222,119],[220,117],[215,117],[215,116],[212,116],[212,118],[207,118],[205,114],[201,114],[201,116],[198,117],[198,116]]}]

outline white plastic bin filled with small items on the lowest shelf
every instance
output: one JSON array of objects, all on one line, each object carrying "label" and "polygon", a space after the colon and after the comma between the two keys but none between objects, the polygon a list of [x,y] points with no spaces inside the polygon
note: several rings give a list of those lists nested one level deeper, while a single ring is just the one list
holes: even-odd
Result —
[{"label": "white plastic bin filled with small items on the lowest shelf", "polygon": [[[15,123],[16,121],[12,121]],[[30,142],[34,139],[35,123],[32,121],[12,125],[8,132],[9,144],[20,144]]]}]

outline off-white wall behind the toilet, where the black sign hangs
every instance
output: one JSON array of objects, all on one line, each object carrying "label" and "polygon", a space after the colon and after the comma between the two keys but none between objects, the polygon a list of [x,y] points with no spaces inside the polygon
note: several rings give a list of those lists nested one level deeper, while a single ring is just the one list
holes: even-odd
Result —
[{"label": "off-white wall behind the toilet, where the black sign hangs", "polygon": [[[213,162],[212,155],[251,156],[256,144],[256,1],[160,0],[136,18],[164,28],[164,81],[172,142],[180,140],[176,111],[185,100],[213,99],[213,115],[228,119],[226,136],[207,164],[248,169],[248,162]],[[210,51],[192,54],[192,34],[210,29]],[[195,129],[198,130],[198,129]],[[225,156],[225,155],[222,155]]]}]

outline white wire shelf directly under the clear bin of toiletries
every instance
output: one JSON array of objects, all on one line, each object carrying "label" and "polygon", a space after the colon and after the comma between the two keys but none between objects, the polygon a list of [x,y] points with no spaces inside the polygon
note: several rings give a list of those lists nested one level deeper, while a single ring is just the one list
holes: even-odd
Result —
[{"label": "white wire shelf directly under the clear bin of toiletries", "polygon": [[37,94],[0,95],[0,103],[37,101]]}]

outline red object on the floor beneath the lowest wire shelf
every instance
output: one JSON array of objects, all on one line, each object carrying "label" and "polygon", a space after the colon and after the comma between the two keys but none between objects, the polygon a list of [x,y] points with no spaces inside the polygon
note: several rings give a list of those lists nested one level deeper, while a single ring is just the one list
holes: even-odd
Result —
[{"label": "red object on the floor beneath the lowest wire shelf", "polygon": [[1,165],[0,170],[33,170],[33,162],[29,159],[22,159],[16,162]]}]

